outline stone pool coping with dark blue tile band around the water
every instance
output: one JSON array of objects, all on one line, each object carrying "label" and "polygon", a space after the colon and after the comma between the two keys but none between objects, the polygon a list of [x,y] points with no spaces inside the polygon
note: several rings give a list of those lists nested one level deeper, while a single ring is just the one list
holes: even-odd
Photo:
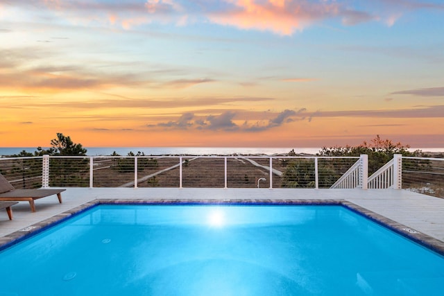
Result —
[{"label": "stone pool coping with dark blue tile band around the water", "polygon": [[63,221],[76,216],[78,214],[91,209],[92,207],[96,207],[99,204],[195,204],[195,205],[341,205],[351,211],[372,220],[373,222],[386,227],[393,232],[400,234],[406,238],[409,238],[411,241],[422,245],[423,247],[427,247],[429,250],[444,256],[444,242],[429,236],[427,234],[423,234],[422,232],[418,232],[416,229],[412,229],[401,223],[396,222],[395,220],[391,220],[386,218],[380,214],[376,214],[373,211],[370,211],[364,207],[361,207],[353,202],[348,200],[335,200],[335,199],[327,199],[327,200],[280,200],[280,199],[105,199],[99,198],[96,200],[92,200],[90,202],[86,202],[85,204],[81,204],[78,207],[74,207],[73,209],[69,209],[68,211],[64,211],[63,213],[57,214],[51,218],[40,221],[39,223],[35,223],[29,227],[25,227],[24,229],[20,229],[17,232],[12,232],[6,236],[0,237],[0,251],[11,247],[21,241],[24,241],[26,238],[31,236],[35,236],[40,232],[43,232],[45,229],[49,227],[53,227],[62,223]]}]

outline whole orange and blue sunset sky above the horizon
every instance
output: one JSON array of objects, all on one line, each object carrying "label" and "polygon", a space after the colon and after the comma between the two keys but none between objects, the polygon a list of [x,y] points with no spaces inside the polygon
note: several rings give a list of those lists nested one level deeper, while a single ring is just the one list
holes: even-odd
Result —
[{"label": "whole orange and blue sunset sky above the horizon", "polygon": [[0,0],[0,147],[444,147],[442,0]]}]

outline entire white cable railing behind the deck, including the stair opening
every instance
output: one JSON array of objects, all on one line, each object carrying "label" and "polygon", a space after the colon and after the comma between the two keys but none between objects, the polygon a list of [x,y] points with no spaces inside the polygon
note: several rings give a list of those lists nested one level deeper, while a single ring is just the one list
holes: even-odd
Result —
[{"label": "entire white cable railing behind the deck, including the stair opening", "polygon": [[0,173],[17,189],[50,186],[392,188],[444,197],[443,158],[394,155],[390,162],[370,177],[367,176],[367,171],[367,155],[361,157],[44,155],[0,158]]}]

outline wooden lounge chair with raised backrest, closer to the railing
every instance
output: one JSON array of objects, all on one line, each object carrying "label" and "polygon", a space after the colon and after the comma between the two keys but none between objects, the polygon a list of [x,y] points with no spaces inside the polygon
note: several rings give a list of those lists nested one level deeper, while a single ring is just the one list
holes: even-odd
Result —
[{"label": "wooden lounge chair with raised backrest, closer to the railing", "polygon": [[35,211],[34,200],[57,194],[58,201],[62,203],[61,192],[66,189],[15,189],[14,186],[0,174],[0,201],[29,202],[31,211]]}]

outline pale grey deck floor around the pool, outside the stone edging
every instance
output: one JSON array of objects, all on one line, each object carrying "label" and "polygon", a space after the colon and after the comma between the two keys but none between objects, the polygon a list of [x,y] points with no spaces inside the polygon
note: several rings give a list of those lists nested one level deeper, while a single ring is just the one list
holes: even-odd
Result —
[{"label": "pale grey deck floor around the pool, outside the stone edging", "polygon": [[345,200],[444,242],[444,199],[394,189],[178,189],[178,188],[67,188],[57,196],[12,207],[14,220],[0,213],[0,238],[40,223],[94,200]]}]

